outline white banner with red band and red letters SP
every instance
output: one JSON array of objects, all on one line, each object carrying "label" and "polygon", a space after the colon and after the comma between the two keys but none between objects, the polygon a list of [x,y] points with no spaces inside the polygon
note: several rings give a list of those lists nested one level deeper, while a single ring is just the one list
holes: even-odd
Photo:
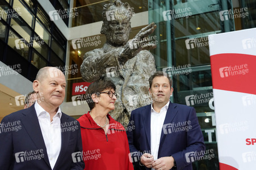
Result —
[{"label": "white banner with red band and red letters SP", "polygon": [[220,170],[256,168],[256,28],[209,35]]}]

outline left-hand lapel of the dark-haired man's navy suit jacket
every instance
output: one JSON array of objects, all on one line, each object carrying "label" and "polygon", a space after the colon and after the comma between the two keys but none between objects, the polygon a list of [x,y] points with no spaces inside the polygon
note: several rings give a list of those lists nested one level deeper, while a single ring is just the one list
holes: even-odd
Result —
[{"label": "left-hand lapel of the dark-haired man's navy suit jacket", "polygon": [[150,144],[150,117],[151,117],[151,105],[147,105],[144,107],[145,111],[142,111],[142,117],[143,117],[143,124],[145,127],[145,133],[146,133],[146,139],[148,140],[148,145],[149,145],[149,150],[151,148],[151,144]]}]

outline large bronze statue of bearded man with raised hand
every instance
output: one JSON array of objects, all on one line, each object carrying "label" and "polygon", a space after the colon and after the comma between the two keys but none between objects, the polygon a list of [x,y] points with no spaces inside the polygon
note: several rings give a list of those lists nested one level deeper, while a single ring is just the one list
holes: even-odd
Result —
[{"label": "large bronze statue of bearded man with raised hand", "polygon": [[[128,41],[131,32],[132,10],[128,3],[108,3],[103,7],[103,25],[100,33],[106,35],[103,48],[85,53],[81,74],[86,82],[111,80],[116,85],[115,110],[110,114],[127,126],[133,109],[149,104],[148,79],[156,72],[155,60],[148,51],[156,48],[149,35],[156,29],[151,23]],[[156,36],[155,36],[156,37]]]}]

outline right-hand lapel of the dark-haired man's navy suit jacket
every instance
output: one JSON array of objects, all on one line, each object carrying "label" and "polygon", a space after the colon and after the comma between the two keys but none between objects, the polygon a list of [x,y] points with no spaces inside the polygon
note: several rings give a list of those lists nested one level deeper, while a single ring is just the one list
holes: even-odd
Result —
[{"label": "right-hand lapel of the dark-haired man's navy suit jacket", "polygon": [[[173,118],[178,113],[178,110],[175,109],[176,107],[177,106],[175,104],[171,103],[171,101],[170,101],[170,104],[169,104],[169,107],[167,109],[166,116],[165,116],[165,121],[163,122],[163,125],[170,124],[171,122],[173,122]],[[162,146],[162,143],[165,140],[165,137],[166,137],[166,134],[163,133],[163,129],[162,129],[161,138],[160,138],[160,147]]]}]

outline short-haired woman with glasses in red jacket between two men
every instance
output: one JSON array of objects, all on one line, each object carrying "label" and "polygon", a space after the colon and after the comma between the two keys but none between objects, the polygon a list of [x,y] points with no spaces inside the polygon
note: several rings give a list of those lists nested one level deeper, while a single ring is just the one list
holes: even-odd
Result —
[{"label": "short-haired woman with glasses in red jacket between two men", "polygon": [[115,90],[115,85],[106,80],[97,80],[86,90],[90,111],[78,119],[86,170],[133,169],[125,129],[108,114],[115,109]]}]

